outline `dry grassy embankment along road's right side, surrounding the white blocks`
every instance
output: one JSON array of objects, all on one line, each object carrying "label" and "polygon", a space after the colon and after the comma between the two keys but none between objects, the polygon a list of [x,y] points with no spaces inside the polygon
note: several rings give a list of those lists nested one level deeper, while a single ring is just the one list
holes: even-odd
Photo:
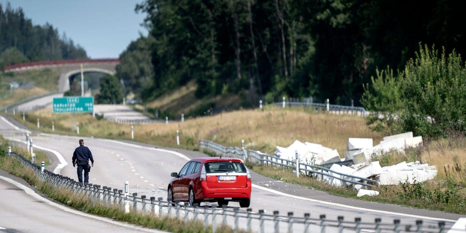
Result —
[{"label": "dry grassy embankment along road's right side, surrounding the white blocks", "polygon": [[[71,120],[68,114],[52,114],[51,110],[39,110],[27,115],[27,126],[36,127],[41,118],[41,130],[51,132],[55,121],[55,133],[70,134]],[[16,117],[22,121],[20,117]],[[115,139],[130,139],[130,125],[98,120],[88,114],[78,115],[81,135]],[[199,139],[207,139],[223,145],[240,146],[241,139],[249,149],[273,153],[275,145],[288,146],[294,140],[308,141],[336,148],[343,155],[348,137],[371,137],[378,144],[382,136],[371,131],[364,118],[308,112],[304,109],[267,107],[265,110],[240,110],[215,116],[199,117],[184,123],[154,123],[135,125],[135,141],[160,146],[177,147],[176,130],[180,130],[179,147],[197,150]],[[75,134],[75,133],[71,133]],[[416,185],[383,186],[376,197],[363,197],[370,201],[393,203],[447,212],[466,213],[466,140],[426,142],[421,148],[408,150],[405,155],[388,153],[379,160],[381,165],[397,162],[422,161],[437,166],[439,174],[432,181]],[[447,165],[445,165],[447,164]],[[464,164],[464,165],[463,165]],[[304,185],[356,198],[356,192],[323,185],[311,178],[296,178],[291,171],[275,170],[254,165],[253,170],[288,183]]]}]

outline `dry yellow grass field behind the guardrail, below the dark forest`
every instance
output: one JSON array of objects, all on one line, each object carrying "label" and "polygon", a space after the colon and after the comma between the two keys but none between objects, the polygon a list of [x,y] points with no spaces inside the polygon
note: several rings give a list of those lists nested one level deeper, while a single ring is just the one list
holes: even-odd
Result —
[{"label": "dry yellow grass field behind the guardrail, below the dark forest", "polygon": [[[51,110],[39,110],[28,116],[34,124],[41,118],[43,130],[55,121],[55,129],[69,130],[70,114],[53,114]],[[96,137],[130,138],[130,125],[98,121],[89,114],[78,114],[80,132]],[[302,109],[268,107],[265,110],[238,110],[209,117],[187,119],[184,123],[151,123],[134,125],[135,138],[159,145],[173,145],[170,140],[180,130],[182,138],[189,137],[194,144],[207,139],[227,146],[240,146],[245,140],[247,148],[273,153],[275,146],[288,146],[295,140],[322,144],[335,148],[344,155],[348,137],[374,138],[374,144],[382,139],[371,131],[363,117],[324,113],[309,113]],[[167,139],[164,139],[167,138]],[[172,143],[175,141],[173,140]]]}]

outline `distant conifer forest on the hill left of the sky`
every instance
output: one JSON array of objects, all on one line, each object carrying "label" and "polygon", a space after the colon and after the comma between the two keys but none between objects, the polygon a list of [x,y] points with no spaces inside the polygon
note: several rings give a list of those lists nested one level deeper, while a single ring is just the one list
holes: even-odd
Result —
[{"label": "distant conifer forest on the hill left of the sky", "polygon": [[87,58],[86,51],[59,35],[50,24],[33,25],[21,8],[0,3],[0,70],[4,66],[34,61]]}]

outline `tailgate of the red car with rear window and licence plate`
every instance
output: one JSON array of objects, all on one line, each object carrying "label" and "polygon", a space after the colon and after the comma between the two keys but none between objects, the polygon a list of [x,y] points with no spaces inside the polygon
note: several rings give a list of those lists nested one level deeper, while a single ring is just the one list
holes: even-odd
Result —
[{"label": "tailgate of the red car with rear window and licence plate", "polygon": [[207,187],[245,188],[247,187],[246,166],[239,161],[211,161],[206,166]]}]

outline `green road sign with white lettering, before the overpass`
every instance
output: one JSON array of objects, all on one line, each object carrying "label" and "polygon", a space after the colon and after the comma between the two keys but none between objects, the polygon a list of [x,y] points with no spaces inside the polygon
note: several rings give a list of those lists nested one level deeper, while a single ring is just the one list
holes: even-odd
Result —
[{"label": "green road sign with white lettering, before the overpass", "polygon": [[54,98],[54,113],[62,112],[93,112],[94,97],[70,96]]}]

